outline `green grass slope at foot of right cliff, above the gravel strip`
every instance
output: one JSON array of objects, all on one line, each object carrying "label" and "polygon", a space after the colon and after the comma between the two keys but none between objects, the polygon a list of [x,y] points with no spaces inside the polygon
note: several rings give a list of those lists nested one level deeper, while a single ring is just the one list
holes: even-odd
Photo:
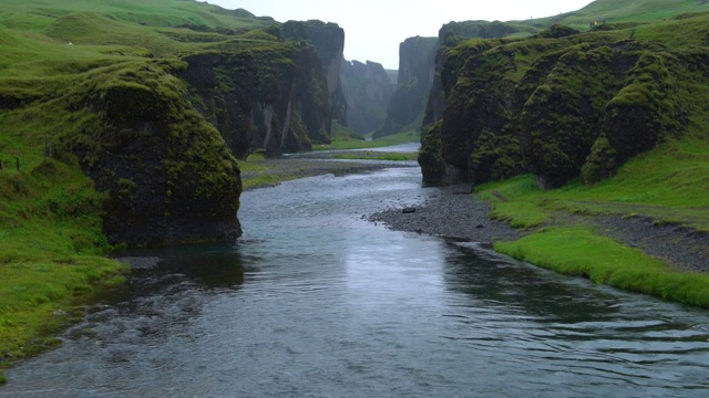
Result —
[{"label": "green grass slope at foot of right cliff, above the gravel strip", "polygon": [[605,181],[578,180],[541,191],[533,176],[481,185],[491,216],[516,228],[547,222],[554,211],[638,214],[709,231],[709,140],[688,136],[624,165]]}]

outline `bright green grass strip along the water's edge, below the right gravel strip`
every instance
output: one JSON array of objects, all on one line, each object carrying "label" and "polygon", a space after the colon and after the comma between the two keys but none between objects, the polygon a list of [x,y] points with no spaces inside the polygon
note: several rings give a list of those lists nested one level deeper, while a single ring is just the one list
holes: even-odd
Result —
[{"label": "bright green grass strip along the water's edge, below the right gravel strip", "polygon": [[495,243],[495,250],[595,283],[709,308],[709,274],[677,272],[587,228],[547,228]]}]

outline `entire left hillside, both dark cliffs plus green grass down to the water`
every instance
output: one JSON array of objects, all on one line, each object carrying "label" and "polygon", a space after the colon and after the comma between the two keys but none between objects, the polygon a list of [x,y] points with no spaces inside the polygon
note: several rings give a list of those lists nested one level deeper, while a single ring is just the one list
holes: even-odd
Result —
[{"label": "entire left hillside, both dark cliffs plus green grass down to the water", "polygon": [[235,241],[237,159],[330,142],[342,46],[196,1],[3,1],[0,364],[121,280],[111,249]]}]

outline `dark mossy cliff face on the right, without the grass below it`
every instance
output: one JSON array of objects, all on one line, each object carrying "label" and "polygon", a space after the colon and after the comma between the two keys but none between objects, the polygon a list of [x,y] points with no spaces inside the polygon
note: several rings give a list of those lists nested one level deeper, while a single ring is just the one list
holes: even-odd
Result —
[{"label": "dark mossy cliff face on the right, without the grass below it", "polygon": [[674,83],[684,67],[657,44],[557,28],[523,41],[467,40],[440,56],[441,143],[420,157],[438,170],[429,181],[528,168],[542,189],[582,175],[594,182],[682,128]]}]

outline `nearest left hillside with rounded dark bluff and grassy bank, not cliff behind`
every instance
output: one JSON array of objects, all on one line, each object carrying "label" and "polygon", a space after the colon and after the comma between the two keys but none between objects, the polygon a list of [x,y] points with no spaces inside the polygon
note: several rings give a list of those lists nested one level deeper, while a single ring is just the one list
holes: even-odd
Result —
[{"label": "nearest left hillside with rounded dark bluff and grassy bank, not cliff behind", "polygon": [[116,216],[135,221],[123,230],[172,233],[171,220],[198,213],[214,219],[209,233],[238,233],[238,166],[187,100],[179,59],[282,57],[292,46],[273,51],[277,31],[269,18],[195,1],[3,1],[0,367],[53,344],[45,336],[71,322],[75,297],[121,281],[124,266],[104,258],[111,243],[154,243],[106,237]]}]

